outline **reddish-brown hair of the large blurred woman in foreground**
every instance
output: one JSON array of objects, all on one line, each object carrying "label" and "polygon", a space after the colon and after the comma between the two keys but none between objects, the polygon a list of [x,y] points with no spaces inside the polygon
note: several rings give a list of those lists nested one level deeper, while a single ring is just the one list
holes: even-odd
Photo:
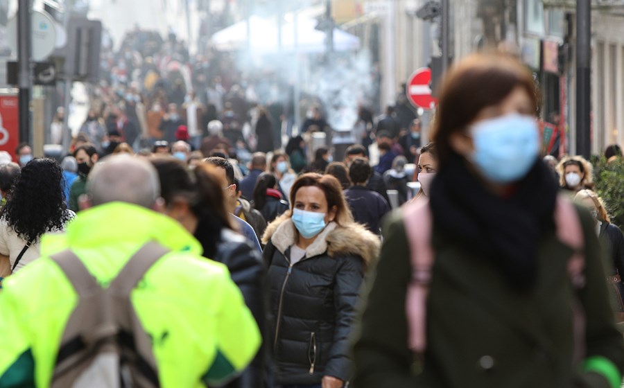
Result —
[{"label": "reddish-brown hair of the large blurred woman in foreground", "polygon": [[455,152],[451,134],[466,129],[481,109],[499,104],[516,87],[526,90],[537,113],[538,96],[531,73],[506,55],[474,54],[451,69],[442,84],[433,127],[440,166]]}]

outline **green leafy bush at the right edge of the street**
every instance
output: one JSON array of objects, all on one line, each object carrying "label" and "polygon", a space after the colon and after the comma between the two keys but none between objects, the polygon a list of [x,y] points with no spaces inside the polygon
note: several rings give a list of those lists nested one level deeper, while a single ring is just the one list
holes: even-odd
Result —
[{"label": "green leafy bush at the right edge of the street", "polygon": [[624,158],[607,163],[603,157],[593,165],[596,192],[603,198],[612,224],[624,228]]}]

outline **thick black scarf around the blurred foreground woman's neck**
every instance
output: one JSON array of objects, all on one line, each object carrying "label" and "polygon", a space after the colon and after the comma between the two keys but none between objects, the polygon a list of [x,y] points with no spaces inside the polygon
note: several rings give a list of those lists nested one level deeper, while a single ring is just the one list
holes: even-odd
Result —
[{"label": "thick black scarf around the blurred foreground woman's neck", "polygon": [[497,267],[510,284],[526,290],[537,277],[537,247],[555,228],[557,182],[538,159],[505,195],[494,193],[453,155],[433,180],[431,209],[436,233]]}]

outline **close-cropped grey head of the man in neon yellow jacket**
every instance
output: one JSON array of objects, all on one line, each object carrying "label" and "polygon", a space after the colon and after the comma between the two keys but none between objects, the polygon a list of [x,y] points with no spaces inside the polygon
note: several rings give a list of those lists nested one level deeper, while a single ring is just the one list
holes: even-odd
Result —
[{"label": "close-cropped grey head of the man in neon yellow jacket", "polygon": [[125,154],[113,155],[89,174],[87,193],[93,206],[127,202],[152,208],[160,195],[160,182],[148,161]]}]

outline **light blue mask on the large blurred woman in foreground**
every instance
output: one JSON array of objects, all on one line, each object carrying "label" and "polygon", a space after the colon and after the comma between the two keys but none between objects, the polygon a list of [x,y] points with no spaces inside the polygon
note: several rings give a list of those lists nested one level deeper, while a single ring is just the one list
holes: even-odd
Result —
[{"label": "light blue mask on the large blurred woman in foreground", "polygon": [[470,129],[474,153],[470,161],[497,184],[523,178],[539,153],[539,131],[532,116],[506,114],[476,123]]}]

